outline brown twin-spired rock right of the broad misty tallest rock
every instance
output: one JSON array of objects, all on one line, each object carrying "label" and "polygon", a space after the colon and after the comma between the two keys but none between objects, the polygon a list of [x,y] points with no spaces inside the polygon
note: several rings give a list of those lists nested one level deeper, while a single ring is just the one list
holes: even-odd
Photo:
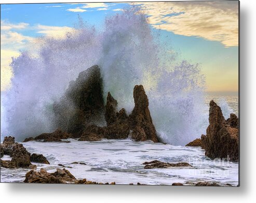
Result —
[{"label": "brown twin-spired rock right of the broad misty tallest rock", "polygon": [[128,116],[123,108],[117,111],[117,101],[111,93],[107,94],[105,120],[107,126],[88,126],[79,140],[96,141],[106,139],[125,139],[130,132],[135,141],[152,140],[157,142],[156,130],[149,110],[149,100],[142,85],[136,85],[133,90],[134,109]]}]

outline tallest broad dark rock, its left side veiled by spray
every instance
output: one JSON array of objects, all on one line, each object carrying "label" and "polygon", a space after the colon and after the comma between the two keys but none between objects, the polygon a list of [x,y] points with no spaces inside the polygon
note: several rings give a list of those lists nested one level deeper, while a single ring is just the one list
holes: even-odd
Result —
[{"label": "tallest broad dark rock, its left side veiled by spray", "polygon": [[80,137],[87,125],[104,122],[102,78],[98,65],[79,73],[58,103],[53,104],[56,126]]}]

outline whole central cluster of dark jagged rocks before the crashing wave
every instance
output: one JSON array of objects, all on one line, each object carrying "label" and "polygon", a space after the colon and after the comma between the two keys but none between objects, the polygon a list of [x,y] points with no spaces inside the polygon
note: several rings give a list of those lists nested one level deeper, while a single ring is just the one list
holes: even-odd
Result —
[{"label": "whole central cluster of dark jagged rocks before the crashing wave", "polygon": [[[130,115],[127,115],[124,108],[117,111],[117,100],[110,92],[104,106],[100,68],[92,66],[80,72],[60,101],[53,104],[54,122],[58,129],[53,133],[26,138],[24,142],[61,141],[66,138],[80,138],[80,141],[125,139],[130,133],[135,141],[158,142],[149,110],[149,99],[142,85],[134,86],[133,98],[134,109]],[[106,126],[102,123],[106,123]]]}]

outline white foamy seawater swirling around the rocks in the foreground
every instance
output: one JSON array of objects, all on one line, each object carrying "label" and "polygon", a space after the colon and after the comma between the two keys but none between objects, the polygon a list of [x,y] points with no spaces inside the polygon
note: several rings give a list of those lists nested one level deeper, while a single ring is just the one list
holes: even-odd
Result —
[{"label": "white foamy seawater swirling around the rocks in the foreground", "polygon": [[[223,186],[238,184],[238,163],[212,161],[200,147],[181,147],[152,141],[134,142],[125,140],[101,140],[95,142],[77,141],[26,142],[24,147],[30,153],[42,153],[50,165],[38,164],[37,170],[48,172],[62,168],[62,164],[77,179],[116,184],[171,185],[181,182],[191,185],[199,181],[217,182]],[[4,159],[8,159],[7,156]],[[144,169],[143,162],[159,160],[177,163],[187,162],[192,167],[167,169]],[[83,162],[87,165],[71,164]],[[22,182],[29,169],[1,169],[1,182]]]}]

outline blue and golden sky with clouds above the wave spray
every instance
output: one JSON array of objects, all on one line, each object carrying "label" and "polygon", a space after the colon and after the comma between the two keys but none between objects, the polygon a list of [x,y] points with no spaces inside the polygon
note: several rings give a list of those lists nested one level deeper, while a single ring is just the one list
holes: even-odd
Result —
[{"label": "blue and golden sky with clouds above the wave spray", "polygon": [[[129,5],[2,4],[1,90],[11,77],[11,56],[18,56],[30,39],[69,31],[77,23],[78,15],[100,30],[106,16],[122,12]],[[149,16],[152,30],[161,28],[161,38],[170,40],[171,48],[181,59],[201,64],[208,91],[238,91],[237,1],[158,2],[141,6]]]}]

